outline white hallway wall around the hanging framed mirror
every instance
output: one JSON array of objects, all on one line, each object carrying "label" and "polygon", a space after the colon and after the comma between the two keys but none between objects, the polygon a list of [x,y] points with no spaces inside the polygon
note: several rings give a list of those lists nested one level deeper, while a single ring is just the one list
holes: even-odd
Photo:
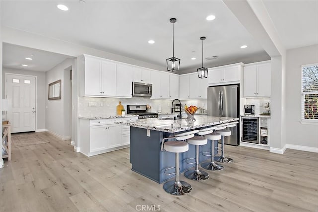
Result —
[{"label": "white hallway wall around the hanging framed mirror", "polygon": [[[65,95],[69,92],[69,75],[66,77],[66,70],[73,65],[74,59],[65,59],[60,64],[53,67],[46,72],[46,84],[50,84],[57,80],[62,80],[61,83],[61,99],[58,100],[46,100],[46,129],[51,133],[57,135],[62,139],[70,139],[70,110],[66,109],[70,107],[70,96]],[[66,78],[65,78],[66,77]],[[46,87],[46,93],[48,93],[48,87]],[[68,117],[65,119],[65,117]]]}]

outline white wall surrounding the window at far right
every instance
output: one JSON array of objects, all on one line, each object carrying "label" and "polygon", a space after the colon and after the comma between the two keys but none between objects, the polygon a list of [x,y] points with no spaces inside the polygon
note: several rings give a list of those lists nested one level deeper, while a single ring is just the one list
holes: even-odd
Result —
[{"label": "white wall surrounding the window at far right", "polygon": [[318,45],[287,50],[287,144],[318,148],[318,125],[301,124],[301,66],[318,63]]}]

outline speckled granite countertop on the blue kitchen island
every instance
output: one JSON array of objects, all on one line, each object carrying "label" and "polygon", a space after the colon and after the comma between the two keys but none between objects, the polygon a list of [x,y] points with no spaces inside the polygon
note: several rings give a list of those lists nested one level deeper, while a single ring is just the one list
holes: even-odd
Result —
[{"label": "speckled granite countertop on the blue kitchen island", "polygon": [[162,132],[174,133],[186,131],[201,127],[213,126],[221,123],[238,121],[239,118],[231,117],[216,117],[216,116],[194,116],[196,121],[193,124],[188,124],[185,119],[176,120],[162,120],[158,118],[138,119],[133,121],[115,122],[117,124],[129,125],[131,127],[138,127],[150,130],[157,130]]}]

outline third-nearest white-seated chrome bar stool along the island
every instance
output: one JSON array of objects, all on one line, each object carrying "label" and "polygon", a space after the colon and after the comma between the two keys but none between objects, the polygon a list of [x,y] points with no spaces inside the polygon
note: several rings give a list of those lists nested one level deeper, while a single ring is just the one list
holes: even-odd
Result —
[{"label": "third-nearest white-seated chrome bar stool along the island", "polygon": [[[220,170],[224,169],[224,167],[222,165],[214,162],[214,149],[215,149],[214,142],[221,139],[221,134],[217,133],[216,130],[222,130],[225,128],[226,127],[224,126],[224,124],[214,126],[215,131],[211,134],[207,134],[204,136],[205,138],[207,138],[208,140],[210,140],[212,142],[212,144],[211,144],[211,162],[201,163],[202,168],[207,169],[207,170],[211,170],[211,171],[220,171]],[[205,156],[210,156],[210,155],[205,155]]]}]

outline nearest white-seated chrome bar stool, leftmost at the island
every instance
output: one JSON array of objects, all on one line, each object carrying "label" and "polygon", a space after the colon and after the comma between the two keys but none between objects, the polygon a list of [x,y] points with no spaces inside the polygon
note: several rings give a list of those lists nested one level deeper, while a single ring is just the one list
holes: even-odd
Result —
[{"label": "nearest white-seated chrome bar stool, leftmost at the island", "polygon": [[[174,135],[173,137],[167,137],[162,139],[161,151],[166,150],[168,152],[175,153],[175,167],[167,168],[164,171],[165,174],[174,174],[167,173],[167,170],[175,168],[175,180],[167,181],[163,185],[163,189],[170,194],[183,195],[189,193],[192,190],[192,187],[189,183],[179,180],[179,153],[186,152],[189,150],[189,144],[187,142],[184,142],[184,140],[194,137],[194,134],[197,132],[199,131],[193,130]],[[169,139],[175,139],[177,141],[166,141]]]}]

